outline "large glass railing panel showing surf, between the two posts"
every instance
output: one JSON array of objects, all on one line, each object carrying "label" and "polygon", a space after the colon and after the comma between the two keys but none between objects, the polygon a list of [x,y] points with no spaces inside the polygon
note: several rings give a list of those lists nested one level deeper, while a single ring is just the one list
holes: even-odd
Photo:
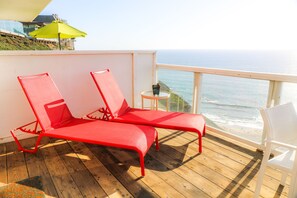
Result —
[{"label": "large glass railing panel showing surf, between the two posts", "polygon": [[228,133],[261,142],[269,82],[203,75],[201,113],[207,124]]}]

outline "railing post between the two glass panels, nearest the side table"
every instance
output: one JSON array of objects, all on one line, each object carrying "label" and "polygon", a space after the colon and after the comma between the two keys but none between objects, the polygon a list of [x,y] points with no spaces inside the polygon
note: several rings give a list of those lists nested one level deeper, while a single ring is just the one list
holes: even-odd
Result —
[{"label": "railing post between the two glass panels, nearest the side table", "polygon": [[201,83],[202,83],[202,73],[194,72],[192,112],[195,114],[200,112],[199,108],[201,104]]}]

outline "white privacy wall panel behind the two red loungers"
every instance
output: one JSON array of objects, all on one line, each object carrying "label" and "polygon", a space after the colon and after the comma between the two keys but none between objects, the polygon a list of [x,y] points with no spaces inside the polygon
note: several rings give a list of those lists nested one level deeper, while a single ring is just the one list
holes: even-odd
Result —
[{"label": "white privacy wall panel behind the two red loungers", "polygon": [[12,141],[11,129],[35,120],[17,76],[48,72],[72,114],[81,117],[103,106],[90,71],[109,68],[128,103],[134,97],[134,106],[140,107],[140,92],[153,83],[154,60],[154,51],[0,52],[0,143]]}]

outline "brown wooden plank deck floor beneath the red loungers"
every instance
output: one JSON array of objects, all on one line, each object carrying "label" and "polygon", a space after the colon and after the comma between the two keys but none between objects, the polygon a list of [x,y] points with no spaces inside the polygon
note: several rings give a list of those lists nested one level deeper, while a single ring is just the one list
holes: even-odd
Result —
[{"label": "brown wooden plank deck floor beneath the red loungers", "polygon": [[[193,133],[159,129],[160,151],[145,157],[140,177],[135,152],[98,145],[45,139],[37,154],[0,145],[0,182],[41,176],[53,197],[252,197],[262,158],[254,148],[211,132],[197,152]],[[23,140],[29,146],[35,138]],[[280,173],[268,169],[263,197],[286,197]]]}]

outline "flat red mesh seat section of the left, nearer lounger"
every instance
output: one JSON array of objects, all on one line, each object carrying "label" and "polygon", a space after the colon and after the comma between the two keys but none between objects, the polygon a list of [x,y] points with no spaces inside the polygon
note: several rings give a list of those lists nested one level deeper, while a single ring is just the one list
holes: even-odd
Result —
[{"label": "flat red mesh seat section of the left, nearer lounger", "polygon": [[[99,121],[99,120],[98,120]],[[154,128],[133,124],[111,123],[74,118],[55,130],[44,132],[44,136],[72,141],[100,144],[135,150],[143,156],[156,138]]]}]

